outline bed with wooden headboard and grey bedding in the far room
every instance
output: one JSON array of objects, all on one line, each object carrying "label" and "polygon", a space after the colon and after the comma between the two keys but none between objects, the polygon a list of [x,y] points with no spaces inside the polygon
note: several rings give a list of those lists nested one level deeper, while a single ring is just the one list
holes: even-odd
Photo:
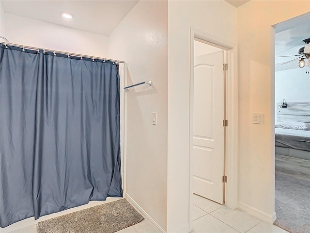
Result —
[{"label": "bed with wooden headboard and grey bedding in the far room", "polygon": [[310,102],[277,105],[276,154],[310,160]]}]

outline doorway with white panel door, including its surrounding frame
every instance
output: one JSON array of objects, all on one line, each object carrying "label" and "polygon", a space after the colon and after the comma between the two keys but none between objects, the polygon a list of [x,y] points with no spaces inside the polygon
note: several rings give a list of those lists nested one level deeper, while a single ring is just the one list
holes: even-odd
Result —
[{"label": "doorway with white panel door, including its surrounding frame", "polygon": [[238,83],[233,62],[236,50],[191,29],[190,229],[197,217],[197,201],[202,197],[214,205],[237,207]]}]

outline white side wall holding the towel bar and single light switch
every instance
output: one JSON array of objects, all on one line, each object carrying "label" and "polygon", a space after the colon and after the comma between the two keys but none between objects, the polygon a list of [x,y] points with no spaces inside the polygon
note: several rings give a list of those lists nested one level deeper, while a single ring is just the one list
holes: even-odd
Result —
[{"label": "white side wall holding the towel bar and single light switch", "polygon": [[[109,36],[109,57],[127,62],[127,195],[167,230],[167,1],[139,1]],[[152,112],[157,125],[152,125]]]}]

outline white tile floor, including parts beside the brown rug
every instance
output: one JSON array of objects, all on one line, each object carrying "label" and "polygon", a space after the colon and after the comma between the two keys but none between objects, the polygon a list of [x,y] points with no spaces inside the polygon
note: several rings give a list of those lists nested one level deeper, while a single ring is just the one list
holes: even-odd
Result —
[{"label": "white tile floor, including parts beside the brown rug", "polygon": [[[192,216],[193,231],[191,233],[288,233],[241,210],[232,210],[197,195],[193,197]],[[36,233],[36,225],[8,233]],[[117,233],[157,233],[157,231],[148,220],[144,219]]]}]

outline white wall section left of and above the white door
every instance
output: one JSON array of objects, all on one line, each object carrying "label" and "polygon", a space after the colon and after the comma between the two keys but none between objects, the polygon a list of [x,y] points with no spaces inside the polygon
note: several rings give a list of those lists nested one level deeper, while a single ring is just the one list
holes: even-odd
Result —
[{"label": "white wall section left of and above the white door", "polygon": [[168,232],[188,232],[190,27],[236,45],[236,8],[225,1],[168,2]]}]

